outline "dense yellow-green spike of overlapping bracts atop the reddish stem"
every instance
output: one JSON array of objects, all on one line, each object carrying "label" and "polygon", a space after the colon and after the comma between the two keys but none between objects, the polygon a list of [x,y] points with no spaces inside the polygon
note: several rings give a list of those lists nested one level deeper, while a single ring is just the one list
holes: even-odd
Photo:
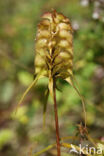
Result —
[{"label": "dense yellow-green spike of overlapping bracts atop the reddish stem", "polygon": [[35,43],[35,74],[66,79],[72,75],[73,30],[70,21],[56,11],[45,13]]}]

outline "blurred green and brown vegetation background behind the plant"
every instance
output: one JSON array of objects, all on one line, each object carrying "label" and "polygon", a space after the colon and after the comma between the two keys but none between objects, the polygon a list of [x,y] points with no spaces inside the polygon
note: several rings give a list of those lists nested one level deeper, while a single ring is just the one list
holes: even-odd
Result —
[{"label": "blurred green and brown vegetation background behind the plant", "polygon": [[[52,8],[63,13],[74,29],[74,75],[84,96],[92,137],[104,140],[104,0],[0,0],[0,156],[29,155],[55,142],[54,110],[48,100],[43,131],[43,101],[48,80],[32,88],[37,24]],[[60,135],[71,136],[84,115],[80,97],[64,81],[57,91]],[[54,156],[55,149],[43,154]],[[68,156],[67,152],[62,156]]]}]

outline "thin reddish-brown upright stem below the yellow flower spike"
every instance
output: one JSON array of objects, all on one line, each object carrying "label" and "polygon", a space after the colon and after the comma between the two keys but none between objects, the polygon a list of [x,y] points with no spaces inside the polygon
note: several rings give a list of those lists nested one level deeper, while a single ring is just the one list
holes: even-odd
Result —
[{"label": "thin reddish-brown upright stem below the yellow flower spike", "polygon": [[57,112],[57,103],[56,103],[55,80],[53,80],[53,100],[54,100],[54,112],[55,112],[57,156],[61,156],[61,151],[60,151],[60,134],[59,134],[59,122],[58,122],[58,112]]}]

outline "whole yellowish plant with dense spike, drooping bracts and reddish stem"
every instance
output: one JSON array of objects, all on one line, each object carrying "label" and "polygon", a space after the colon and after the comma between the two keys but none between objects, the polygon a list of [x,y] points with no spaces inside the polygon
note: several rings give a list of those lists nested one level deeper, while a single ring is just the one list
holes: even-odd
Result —
[{"label": "whole yellowish plant with dense spike, drooping bracts and reddish stem", "polygon": [[[66,80],[75,88],[79,95],[80,93],[73,83],[73,29],[69,19],[55,10],[43,14],[42,20],[38,24],[35,39],[34,65],[35,79],[23,94],[18,105],[21,104],[27,92],[40,78],[49,78],[47,97],[50,93],[54,101],[57,156],[60,156],[61,144],[56,105],[56,80],[58,78]],[[83,98],[81,95],[80,97],[84,108]],[[35,155],[39,154],[41,152]]]}]

